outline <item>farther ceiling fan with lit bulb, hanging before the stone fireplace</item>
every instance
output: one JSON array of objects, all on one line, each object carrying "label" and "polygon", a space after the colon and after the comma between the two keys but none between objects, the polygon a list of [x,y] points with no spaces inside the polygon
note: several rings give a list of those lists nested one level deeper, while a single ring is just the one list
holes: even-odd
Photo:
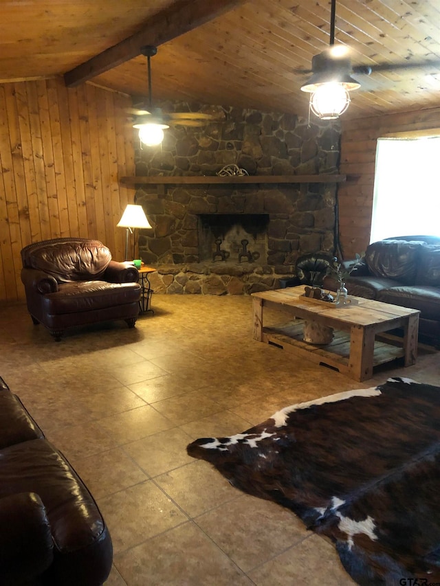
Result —
[{"label": "farther ceiling fan with lit bulb, hanging before the stone fireplace", "polygon": [[[169,128],[170,125],[181,125],[181,126],[203,126],[209,120],[212,120],[212,115],[201,112],[173,112],[164,113],[162,109],[153,106],[153,95],[151,90],[151,57],[157,54],[157,47],[153,45],[144,45],[141,47],[140,52],[147,58],[147,69],[148,69],[148,102],[141,104],[139,108],[131,109],[131,114],[134,115],[133,128],[140,129],[140,139],[142,142],[142,133],[146,130],[147,126],[155,126],[155,130],[158,136],[161,135],[159,131],[164,128]],[[150,128],[151,130],[151,128]],[[159,144],[162,140],[155,143],[145,144]]]}]

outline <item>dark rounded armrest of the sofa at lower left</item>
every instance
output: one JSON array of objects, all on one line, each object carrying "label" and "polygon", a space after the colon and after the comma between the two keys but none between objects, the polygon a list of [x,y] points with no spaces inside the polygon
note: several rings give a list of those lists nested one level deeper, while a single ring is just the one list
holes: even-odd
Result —
[{"label": "dark rounded armrest of the sofa at lower left", "polygon": [[45,507],[36,493],[0,499],[0,575],[3,586],[28,583],[54,557]]}]

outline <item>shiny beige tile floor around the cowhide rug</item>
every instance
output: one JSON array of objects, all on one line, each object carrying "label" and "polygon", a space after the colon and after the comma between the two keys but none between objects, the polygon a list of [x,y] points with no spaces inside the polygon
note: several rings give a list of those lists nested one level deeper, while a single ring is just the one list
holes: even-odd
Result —
[{"label": "shiny beige tile floor around the cowhide rug", "polygon": [[254,341],[250,297],[155,295],[153,307],[135,329],[115,322],[60,343],[24,305],[0,308],[0,375],[96,497],[114,545],[106,585],[353,584],[332,545],[186,445],[392,374],[438,384],[438,353],[356,383]]}]

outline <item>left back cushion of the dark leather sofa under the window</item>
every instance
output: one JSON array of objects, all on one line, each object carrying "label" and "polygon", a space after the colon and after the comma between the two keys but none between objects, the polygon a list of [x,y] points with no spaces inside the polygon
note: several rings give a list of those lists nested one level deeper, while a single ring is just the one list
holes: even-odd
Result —
[{"label": "left back cushion of the dark leather sofa under the window", "polygon": [[367,247],[365,261],[376,277],[412,285],[416,282],[419,254],[425,246],[420,240],[379,240]]}]

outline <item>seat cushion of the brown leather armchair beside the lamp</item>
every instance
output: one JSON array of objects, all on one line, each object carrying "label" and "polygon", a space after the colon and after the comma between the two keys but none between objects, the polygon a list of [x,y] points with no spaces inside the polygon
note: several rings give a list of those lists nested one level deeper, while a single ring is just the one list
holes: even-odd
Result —
[{"label": "seat cushion of the brown leather armchair beside the lamp", "polygon": [[72,282],[60,284],[56,293],[47,293],[42,301],[48,315],[82,313],[137,303],[139,291],[139,283]]}]

